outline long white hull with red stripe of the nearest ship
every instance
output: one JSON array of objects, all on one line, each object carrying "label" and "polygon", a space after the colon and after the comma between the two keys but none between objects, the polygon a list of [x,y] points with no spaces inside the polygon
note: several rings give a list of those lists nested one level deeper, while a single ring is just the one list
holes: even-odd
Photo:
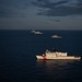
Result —
[{"label": "long white hull with red stripe of the nearest ship", "polygon": [[68,56],[68,57],[44,57],[44,56],[36,56],[37,59],[81,59],[81,57]]}]

